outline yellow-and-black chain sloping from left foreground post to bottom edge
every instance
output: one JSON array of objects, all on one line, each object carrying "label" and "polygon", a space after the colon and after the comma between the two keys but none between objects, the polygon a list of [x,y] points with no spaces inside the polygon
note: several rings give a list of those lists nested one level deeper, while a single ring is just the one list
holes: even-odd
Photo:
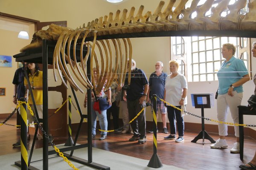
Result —
[{"label": "yellow-and-black chain sloping from left foreground post to bottom edge", "polygon": [[38,119],[36,118],[36,116],[34,116],[34,113],[33,113],[32,109],[31,109],[31,107],[29,106],[29,104],[26,103],[26,102],[20,102],[20,101],[18,101],[18,102],[19,102],[19,104],[18,104],[19,106],[20,106],[20,104],[26,104],[28,106],[27,108],[29,109],[30,113],[32,114],[35,122],[38,124],[38,127],[41,129],[42,133],[44,133],[44,136],[47,138],[48,142],[50,142],[52,147],[54,147],[55,151],[59,154],[59,156],[61,156],[63,158],[63,160],[66,161],[69,164],[69,166],[72,167],[74,170],[79,170],[78,168],[75,167],[75,165],[73,165],[67,159],[66,156],[64,156],[64,154],[62,152],[60,152],[60,150],[56,147],[56,145],[52,142],[52,140],[49,139],[49,135],[44,131],[43,127],[39,124]]}]

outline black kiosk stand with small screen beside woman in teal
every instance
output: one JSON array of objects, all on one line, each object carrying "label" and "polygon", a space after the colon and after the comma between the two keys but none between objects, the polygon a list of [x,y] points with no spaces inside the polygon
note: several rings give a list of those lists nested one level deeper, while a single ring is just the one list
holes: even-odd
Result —
[{"label": "black kiosk stand with small screen beside woman in teal", "polygon": [[199,139],[203,139],[204,145],[204,139],[208,139],[211,143],[215,143],[215,140],[204,130],[204,108],[211,108],[210,94],[191,94],[191,96],[194,96],[192,100],[194,99],[195,108],[201,108],[202,114],[202,130],[191,142],[196,143]]}]

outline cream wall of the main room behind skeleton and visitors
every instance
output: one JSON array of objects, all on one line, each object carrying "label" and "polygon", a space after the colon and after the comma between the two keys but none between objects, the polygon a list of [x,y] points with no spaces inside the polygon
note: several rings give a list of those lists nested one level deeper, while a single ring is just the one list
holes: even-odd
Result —
[{"label": "cream wall of the main room behind skeleton and visitors", "polygon": [[[167,4],[169,0],[165,0],[165,2]],[[108,14],[110,11],[115,12],[117,9],[120,9],[122,11],[123,8],[127,8],[129,12],[131,7],[134,6],[136,8],[136,15],[137,9],[140,7],[141,4],[144,4],[145,6],[143,14],[145,14],[146,11],[154,12],[158,3],[159,0],[126,0],[125,2],[118,4],[106,3],[104,0],[64,0],[61,3],[59,3],[59,1],[50,0],[44,0],[42,2],[34,0],[23,0],[15,3],[13,3],[13,1],[10,0],[1,0],[0,11],[8,14],[18,15],[21,17],[31,18],[34,20],[40,20],[41,22],[67,20],[68,27],[76,28],[82,25],[83,23],[87,23],[88,21],[94,20],[96,17],[104,16],[105,14]],[[25,10],[20,10],[21,8]],[[163,71],[169,72],[169,37],[132,38],[131,42],[133,45],[133,58],[136,60],[137,67],[143,69],[143,71],[145,71],[148,77],[154,71],[154,64],[156,61],[162,61],[164,63]],[[256,59],[253,59],[252,62],[256,63]],[[255,73],[256,68],[253,68],[253,76]],[[50,77],[50,79],[52,79],[52,77]],[[58,81],[60,81],[60,79]],[[54,83],[55,82],[49,82],[49,84]],[[189,82],[188,88],[189,100],[187,105],[187,111],[195,113],[197,115],[201,115],[200,109],[195,109],[191,106],[190,94],[208,92],[215,94],[216,89],[218,88],[218,82]],[[247,99],[251,94],[253,94],[254,91],[254,85],[252,80],[250,80],[250,82],[245,83],[244,90],[244,99],[242,104],[245,105],[247,104]],[[76,92],[76,94],[79,98],[82,107],[84,94],[81,94],[80,92]],[[68,90],[68,95],[72,95],[70,90]],[[56,102],[57,100],[55,96],[52,96],[51,98],[54,99],[56,105],[59,104],[58,102]],[[51,107],[56,107],[56,105],[53,105]],[[149,110],[150,109],[147,108],[146,119],[152,120],[152,114],[150,113]],[[85,109],[83,108],[82,111],[85,111]],[[122,114],[120,115],[120,117],[122,117]],[[208,117],[210,119],[217,119],[216,106],[211,109],[205,109],[205,117]],[[159,121],[160,119],[161,118],[159,118]],[[190,115],[185,116],[184,119],[185,122],[201,123],[201,119],[195,118]],[[78,114],[73,115],[73,122],[79,122]],[[232,122],[231,116],[228,116],[228,122]],[[215,124],[214,122],[210,121],[206,121],[205,123]],[[244,123],[255,124],[251,116],[244,116]]]}]

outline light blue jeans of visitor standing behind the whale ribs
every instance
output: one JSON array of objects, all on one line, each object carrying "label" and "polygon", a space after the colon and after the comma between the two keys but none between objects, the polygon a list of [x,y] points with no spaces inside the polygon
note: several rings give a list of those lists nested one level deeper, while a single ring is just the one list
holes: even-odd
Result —
[{"label": "light blue jeans of visitor standing behind the whale ribs", "polygon": [[[101,111],[101,113],[99,114],[98,111],[94,111],[93,110],[93,104],[94,102],[92,102],[92,135],[96,135],[96,118],[98,116],[99,119],[99,126],[101,130],[108,130],[108,121],[107,121],[107,110],[105,111]],[[101,135],[107,135],[107,132],[103,132],[101,131],[100,133]]]}]

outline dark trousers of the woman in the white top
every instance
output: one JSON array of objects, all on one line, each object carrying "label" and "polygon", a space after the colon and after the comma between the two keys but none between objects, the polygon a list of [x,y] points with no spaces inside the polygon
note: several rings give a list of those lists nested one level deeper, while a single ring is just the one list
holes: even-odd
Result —
[{"label": "dark trousers of the woman in the white top", "polygon": [[[181,106],[176,106],[177,108],[181,108]],[[167,106],[167,113],[168,113],[168,119],[170,123],[170,134],[176,134],[176,123],[177,121],[177,127],[178,127],[178,134],[179,136],[184,136],[184,120],[181,116],[181,113],[179,110],[173,108],[172,106]]]}]

